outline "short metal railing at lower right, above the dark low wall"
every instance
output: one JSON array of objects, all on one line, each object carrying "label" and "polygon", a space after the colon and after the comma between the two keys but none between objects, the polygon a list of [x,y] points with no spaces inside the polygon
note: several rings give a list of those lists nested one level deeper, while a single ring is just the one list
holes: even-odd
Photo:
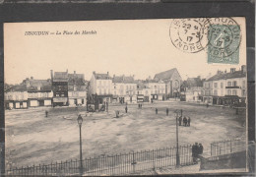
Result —
[{"label": "short metal railing at lower right, above the dark low wall", "polygon": [[211,156],[242,151],[246,149],[246,141],[243,139],[225,140],[211,144]]}]

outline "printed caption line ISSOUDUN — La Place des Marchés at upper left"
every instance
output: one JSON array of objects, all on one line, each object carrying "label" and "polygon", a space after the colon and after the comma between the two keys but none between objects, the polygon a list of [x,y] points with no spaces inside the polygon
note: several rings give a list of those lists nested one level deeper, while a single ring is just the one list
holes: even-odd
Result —
[{"label": "printed caption line ISSOUDUN \u2014 La Place des March\u00e9s at upper left", "polygon": [[79,35],[79,34],[96,34],[96,30],[57,30],[52,32],[49,30],[45,31],[25,31],[25,35]]}]

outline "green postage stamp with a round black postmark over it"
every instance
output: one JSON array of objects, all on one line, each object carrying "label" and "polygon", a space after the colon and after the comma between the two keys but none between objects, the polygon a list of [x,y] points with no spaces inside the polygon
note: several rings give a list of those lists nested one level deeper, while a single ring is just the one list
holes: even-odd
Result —
[{"label": "green postage stamp with a round black postmark over it", "polygon": [[238,64],[240,26],[231,18],[210,19],[208,63]]}]

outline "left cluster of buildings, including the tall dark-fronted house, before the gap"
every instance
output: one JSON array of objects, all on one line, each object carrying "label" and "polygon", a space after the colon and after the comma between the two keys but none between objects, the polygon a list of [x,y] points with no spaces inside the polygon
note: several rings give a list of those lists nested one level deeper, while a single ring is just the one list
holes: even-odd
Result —
[{"label": "left cluster of buildings, including the tall dark-fronted house, before the gap", "polygon": [[51,79],[27,78],[20,85],[5,88],[5,108],[85,105],[87,82],[83,74],[51,71]]}]

